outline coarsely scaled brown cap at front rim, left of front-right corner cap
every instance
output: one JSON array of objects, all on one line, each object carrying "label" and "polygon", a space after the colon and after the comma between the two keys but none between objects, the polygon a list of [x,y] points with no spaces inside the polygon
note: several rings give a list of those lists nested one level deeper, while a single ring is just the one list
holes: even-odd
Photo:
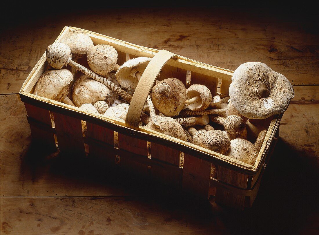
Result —
[{"label": "coarsely scaled brown cap at front rim, left of front-right corner cap", "polygon": [[220,154],[225,154],[230,148],[230,140],[221,130],[199,130],[193,136],[193,144]]}]

